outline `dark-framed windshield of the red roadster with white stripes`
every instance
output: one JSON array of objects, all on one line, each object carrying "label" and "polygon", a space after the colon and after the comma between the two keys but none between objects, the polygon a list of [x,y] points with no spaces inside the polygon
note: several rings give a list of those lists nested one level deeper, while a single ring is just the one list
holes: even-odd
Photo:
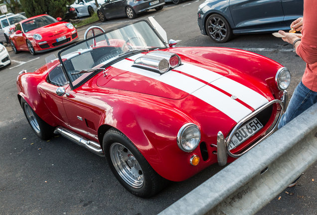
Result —
[{"label": "dark-framed windshield of the red roadster with white stripes", "polygon": [[63,59],[71,86],[76,88],[101,71],[91,69],[106,68],[129,54],[156,48],[166,45],[149,23],[142,20],[70,46],[59,52],[58,57]]}]

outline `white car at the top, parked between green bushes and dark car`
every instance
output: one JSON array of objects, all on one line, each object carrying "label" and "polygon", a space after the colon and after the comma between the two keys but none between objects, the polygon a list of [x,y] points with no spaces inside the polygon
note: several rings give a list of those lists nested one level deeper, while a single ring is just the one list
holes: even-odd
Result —
[{"label": "white car at the top, parked between green bushes and dark car", "polygon": [[[105,3],[105,0],[97,0],[97,2],[100,5]],[[75,8],[77,17],[91,16],[97,11],[95,0],[75,0],[75,2],[70,6]]]}]

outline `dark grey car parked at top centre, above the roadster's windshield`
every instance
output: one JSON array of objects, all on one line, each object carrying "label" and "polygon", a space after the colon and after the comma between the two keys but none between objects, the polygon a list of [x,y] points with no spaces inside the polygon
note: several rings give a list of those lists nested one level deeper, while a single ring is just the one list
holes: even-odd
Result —
[{"label": "dark grey car parked at top centre, above the roadster's windshield", "polygon": [[139,13],[149,9],[161,10],[164,0],[105,0],[97,9],[99,20],[104,22],[108,18],[124,17],[134,19]]}]

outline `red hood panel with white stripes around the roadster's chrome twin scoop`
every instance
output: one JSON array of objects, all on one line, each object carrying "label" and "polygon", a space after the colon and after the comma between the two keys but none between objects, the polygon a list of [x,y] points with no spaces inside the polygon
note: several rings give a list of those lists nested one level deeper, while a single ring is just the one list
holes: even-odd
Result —
[{"label": "red hood panel with white stripes around the roadster's chrome twin scoop", "polygon": [[137,54],[115,63],[108,68],[107,77],[101,77],[97,85],[178,100],[229,74],[207,63],[190,62],[184,58],[180,66],[159,75],[133,67],[134,60],[143,55]]}]

